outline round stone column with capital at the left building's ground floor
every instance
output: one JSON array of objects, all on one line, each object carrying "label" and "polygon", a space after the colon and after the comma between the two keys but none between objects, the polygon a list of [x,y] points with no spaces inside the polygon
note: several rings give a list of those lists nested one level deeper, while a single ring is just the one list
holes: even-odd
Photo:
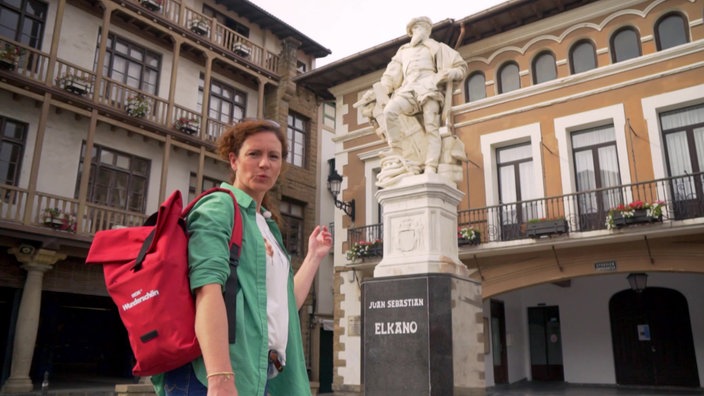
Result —
[{"label": "round stone column with capital at the left building's ground floor", "polygon": [[57,261],[64,260],[66,255],[53,250],[35,249],[28,245],[12,248],[8,252],[15,255],[17,261],[22,263],[22,268],[27,271],[27,279],[22,290],[15,339],[12,344],[10,378],[3,385],[2,392],[31,392],[33,385],[29,378],[29,369],[32,366],[34,344],[39,329],[44,273],[52,269]]}]

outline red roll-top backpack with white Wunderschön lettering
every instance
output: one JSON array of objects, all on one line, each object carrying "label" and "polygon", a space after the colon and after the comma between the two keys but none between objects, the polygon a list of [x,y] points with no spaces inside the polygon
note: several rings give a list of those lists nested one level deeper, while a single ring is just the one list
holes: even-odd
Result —
[{"label": "red roll-top backpack with white Wundersch\u00f6n lettering", "polygon": [[182,210],[176,190],[143,226],[99,231],[87,264],[102,264],[105,285],[117,305],[137,360],[132,373],[147,376],[181,367],[201,355],[195,334],[195,303],[188,283],[186,216],[204,195],[229,193],[235,206],[230,240],[230,277],[225,285],[230,343],[235,341],[237,264],[242,218],[230,190],[211,188]]}]

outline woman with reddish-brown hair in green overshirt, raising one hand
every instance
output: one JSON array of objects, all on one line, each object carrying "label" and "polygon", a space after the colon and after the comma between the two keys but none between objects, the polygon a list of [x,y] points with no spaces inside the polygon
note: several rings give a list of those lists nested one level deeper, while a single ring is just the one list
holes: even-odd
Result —
[{"label": "woman with reddish-brown hair in green overshirt, raising one hand", "polygon": [[[288,153],[286,137],[271,121],[244,121],[218,142],[234,173],[232,190],[244,227],[237,276],[236,342],[228,344],[223,288],[229,276],[229,240],[234,207],[228,194],[209,194],[188,216],[191,289],[196,301],[196,336],[203,356],[155,376],[165,395],[310,395],[298,310],[320,261],[332,246],[327,227],[308,238],[308,253],[292,275],[281,233],[267,208]],[[271,351],[274,351],[272,354]],[[163,389],[162,389],[163,387]]]}]

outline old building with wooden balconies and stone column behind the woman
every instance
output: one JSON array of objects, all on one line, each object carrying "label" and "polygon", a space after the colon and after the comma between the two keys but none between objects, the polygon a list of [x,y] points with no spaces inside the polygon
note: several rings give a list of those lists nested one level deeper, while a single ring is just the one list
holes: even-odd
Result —
[{"label": "old building with wooden balconies and stone column behind the woman", "polygon": [[[0,1],[0,15],[2,392],[45,375],[52,387],[134,382],[102,269],[84,264],[93,235],[141,225],[174,190],[190,200],[228,180],[215,141],[268,118],[288,130],[270,209],[297,267],[331,198],[318,194],[319,99],[292,79],[330,51],[248,1]],[[300,314],[316,383],[321,345],[332,348],[331,260],[322,267],[325,295]]]}]

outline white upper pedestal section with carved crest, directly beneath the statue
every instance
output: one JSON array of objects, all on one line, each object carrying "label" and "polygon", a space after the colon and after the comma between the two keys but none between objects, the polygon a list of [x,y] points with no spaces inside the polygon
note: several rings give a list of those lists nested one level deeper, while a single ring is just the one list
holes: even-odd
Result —
[{"label": "white upper pedestal section with carved crest, directly beneath the statue", "polygon": [[467,276],[458,258],[457,205],[462,192],[436,174],[403,178],[379,190],[384,258],[374,277],[423,273]]}]

